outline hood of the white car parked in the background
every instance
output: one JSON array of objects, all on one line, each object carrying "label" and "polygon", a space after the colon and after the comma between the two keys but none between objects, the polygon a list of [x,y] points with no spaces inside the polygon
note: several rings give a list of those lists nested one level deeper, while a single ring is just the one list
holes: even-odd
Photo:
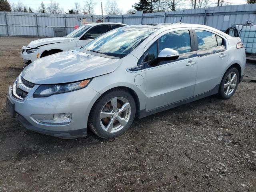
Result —
[{"label": "hood of the white car parked in the background", "polygon": [[72,41],[72,40],[74,40],[74,38],[69,38],[69,37],[42,38],[42,39],[38,39],[38,40],[34,40],[34,41],[30,42],[27,47],[36,48],[38,46],[42,46],[45,44],[68,42],[68,41]]}]

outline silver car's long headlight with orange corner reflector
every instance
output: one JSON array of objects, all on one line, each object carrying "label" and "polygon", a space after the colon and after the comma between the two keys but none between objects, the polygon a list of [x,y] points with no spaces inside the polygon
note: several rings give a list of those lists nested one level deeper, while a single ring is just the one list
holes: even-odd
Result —
[{"label": "silver car's long headlight with orange corner reflector", "polygon": [[90,79],[79,82],[56,84],[56,85],[40,85],[34,92],[34,97],[48,97],[53,94],[70,92],[86,87],[90,82]]}]

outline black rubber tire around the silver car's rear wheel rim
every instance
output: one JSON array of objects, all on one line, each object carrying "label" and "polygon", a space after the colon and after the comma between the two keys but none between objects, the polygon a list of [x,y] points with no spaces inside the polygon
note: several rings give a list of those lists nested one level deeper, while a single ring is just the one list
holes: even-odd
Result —
[{"label": "black rubber tire around the silver car's rear wheel rim", "polygon": [[[227,94],[225,94],[225,92],[224,92],[224,84],[225,84],[226,78],[227,78],[228,75],[229,75],[230,73],[232,73],[232,72],[236,73],[236,77],[237,77],[236,86],[235,86],[235,88],[234,88],[234,91],[233,91],[230,95],[227,95]],[[223,76],[221,82],[220,82],[219,96],[220,96],[222,99],[229,99],[229,98],[236,92],[236,88],[237,88],[237,86],[238,86],[239,80],[240,80],[240,76],[239,76],[239,72],[238,72],[237,68],[232,67],[232,68],[228,69],[228,70],[226,71],[226,73],[224,74],[224,76]]]}]

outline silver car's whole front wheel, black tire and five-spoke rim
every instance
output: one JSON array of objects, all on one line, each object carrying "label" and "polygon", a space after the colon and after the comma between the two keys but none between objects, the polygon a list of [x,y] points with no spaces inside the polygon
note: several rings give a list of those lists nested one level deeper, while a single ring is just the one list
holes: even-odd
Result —
[{"label": "silver car's whole front wheel, black tire and five-spoke rim", "polygon": [[135,113],[136,104],[132,95],[124,89],[115,88],[102,94],[95,102],[88,127],[101,138],[114,138],[130,128]]}]

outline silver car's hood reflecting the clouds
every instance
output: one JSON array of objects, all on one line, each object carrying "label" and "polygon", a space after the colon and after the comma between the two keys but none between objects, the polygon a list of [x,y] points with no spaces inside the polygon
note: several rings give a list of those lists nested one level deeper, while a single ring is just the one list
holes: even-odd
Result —
[{"label": "silver car's hood reflecting the clouds", "polygon": [[35,84],[75,82],[113,72],[120,63],[120,59],[70,50],[32,62],[24,68],[22,77]]}]

